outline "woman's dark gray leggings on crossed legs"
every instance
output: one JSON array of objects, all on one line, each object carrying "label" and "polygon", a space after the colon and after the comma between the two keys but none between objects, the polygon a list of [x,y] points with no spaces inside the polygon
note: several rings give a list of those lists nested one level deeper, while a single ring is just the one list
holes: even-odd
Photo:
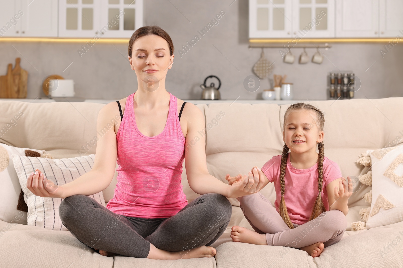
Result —
[{"label": "woman's dark gray leggings on crossed legs", "polygon": [[75,194],[59,207],[64,226],[82,243],[122,256],[147,258],[150,243],[177,252],[211,245],[225,231],[231,203],[221,194],[203,194],[168,218],[119,215],[93,198]]}]

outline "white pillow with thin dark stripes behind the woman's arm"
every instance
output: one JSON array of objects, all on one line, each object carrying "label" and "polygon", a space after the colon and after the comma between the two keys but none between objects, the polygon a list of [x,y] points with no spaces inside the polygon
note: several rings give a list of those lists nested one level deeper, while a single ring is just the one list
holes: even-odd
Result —
[{"label": "white pillow with thin dark stripes behind the woman's arm", "polygon": [[[12,161],[24,191],[24,199],[27,198],[25,203],[28,206],[28,225],[40,226],[50,230],[68,230],[59,217],[59,206],[63,198],[40,197],[33,194],[27,188],[27,179],[31,172],[39,169],[46,178],[55,184],[64,185],[89,172],[94,160],[94,154],[63,159],[12,155]],[[89,197],[105,207],[102,191]]]}]

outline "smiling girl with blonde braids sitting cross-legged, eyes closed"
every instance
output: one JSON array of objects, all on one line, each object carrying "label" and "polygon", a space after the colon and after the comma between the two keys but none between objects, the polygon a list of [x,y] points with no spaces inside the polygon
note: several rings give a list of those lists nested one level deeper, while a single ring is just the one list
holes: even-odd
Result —
[{"label": "smiling girl with blonde braids sitting cross-legged, eyes closed", "polygon": [[[324,115],[318,108],[304,103],[287,108],[283,154],[274,156],[262,169],[252,168],[265,180],[260,190],[274,182],[275,209],[260,192],[237,198],[256,232],[235,225],[233,241],[298,248],[312,257],[340,241],[353,183],[347,177],[347,188],[337,164],[324,156],[323,127]],[[227,174],[226,179],[231,185],[241,177]]]}]

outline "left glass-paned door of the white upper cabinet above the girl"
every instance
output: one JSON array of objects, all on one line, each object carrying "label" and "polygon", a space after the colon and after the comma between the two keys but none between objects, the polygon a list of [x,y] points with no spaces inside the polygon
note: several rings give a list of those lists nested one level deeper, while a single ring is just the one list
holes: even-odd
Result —
[{"label": "left glass-paned door of the white upper cabinet above the girl", "polygon": [[292,0],[249,0],[249,38],[291,38]]}]

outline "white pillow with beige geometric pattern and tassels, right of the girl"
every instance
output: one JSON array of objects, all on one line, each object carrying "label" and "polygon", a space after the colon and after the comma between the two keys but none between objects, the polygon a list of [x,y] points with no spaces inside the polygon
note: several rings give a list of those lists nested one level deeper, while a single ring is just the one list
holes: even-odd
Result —
[{"label": "white pillow with beige geometric pattern and tassels, right of the girl", "polygon": [[372,200],[366,229],[403,221],[403,146],[370,153]]}]

